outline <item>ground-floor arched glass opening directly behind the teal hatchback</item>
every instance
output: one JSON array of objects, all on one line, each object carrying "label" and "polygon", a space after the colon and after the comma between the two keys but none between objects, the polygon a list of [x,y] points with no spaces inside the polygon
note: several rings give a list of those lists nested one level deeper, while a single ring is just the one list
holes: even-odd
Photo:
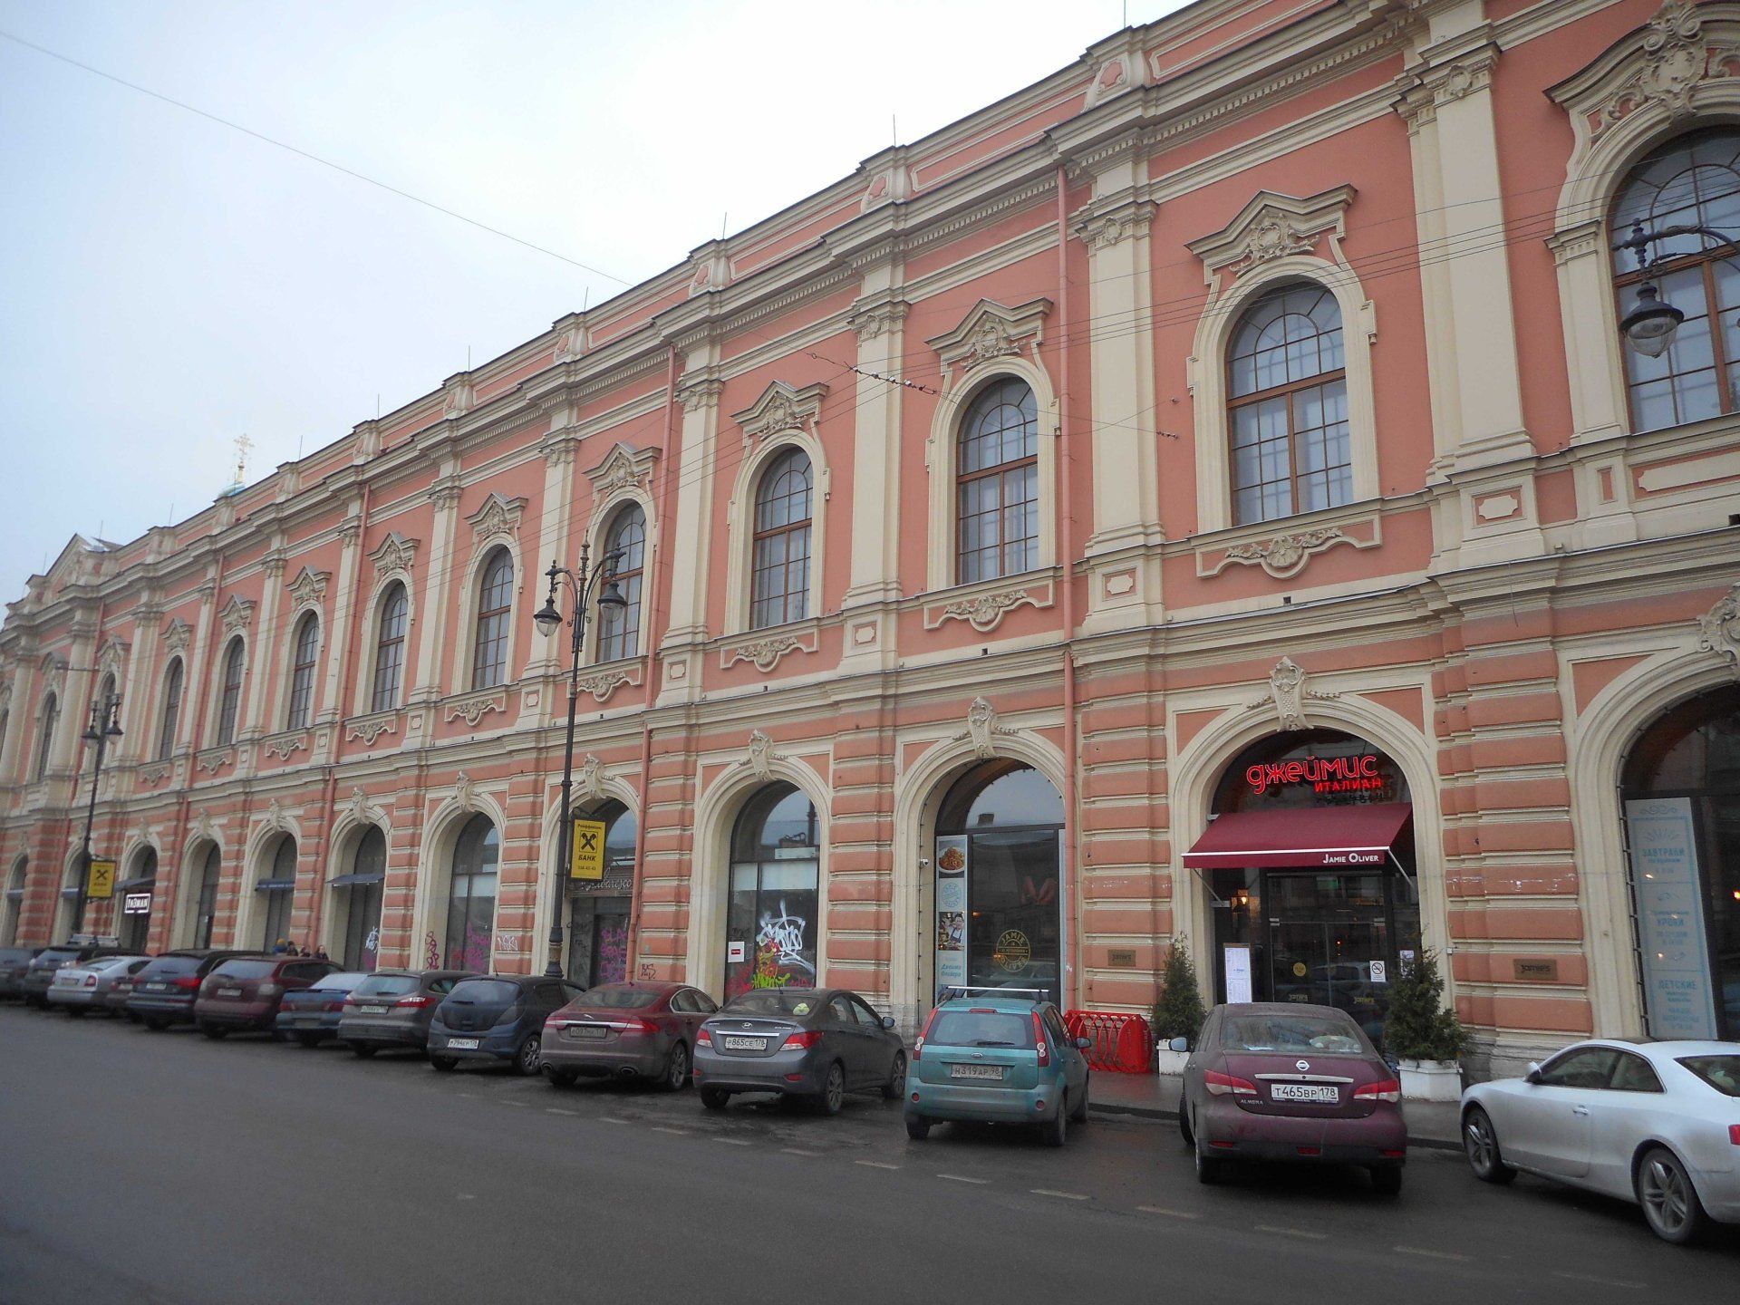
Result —
[{"label": "ground-floor arched glass opening directly behind the teal hatchback", "polygon": [[955,780],[936,814],[936,992],[1037,988],[1063,1000],[1063,797],[997,759]]}]

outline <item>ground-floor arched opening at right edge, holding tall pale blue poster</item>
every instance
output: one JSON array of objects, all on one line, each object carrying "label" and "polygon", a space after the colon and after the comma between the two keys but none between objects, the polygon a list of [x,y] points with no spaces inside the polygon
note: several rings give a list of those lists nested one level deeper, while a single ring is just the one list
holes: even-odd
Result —
[{"label": "ground-floor arched opening at right edge, holding tall pale blue poster", "polygon": [[1650,1035],[1740,1037],[1740,687],[1656,720],[1622,788]]}]

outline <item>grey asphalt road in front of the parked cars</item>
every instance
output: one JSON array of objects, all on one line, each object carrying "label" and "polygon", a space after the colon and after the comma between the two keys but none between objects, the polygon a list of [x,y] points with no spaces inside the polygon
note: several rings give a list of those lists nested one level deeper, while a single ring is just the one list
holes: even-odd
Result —
[{"label": "grey asphalt road in front of the parked cars", "polygon": [[1100,1115],[1047,1150],[908,1141],[900,1108],[703,1112],[421,1058],[358,1061],[0,1007],[0,1302],[914,1298],[1263,1305],[1731,1300],[1740,1232],[1656,1242],[1618,1202],[1364,1174],[1201,1187],[1176,1129]]}]

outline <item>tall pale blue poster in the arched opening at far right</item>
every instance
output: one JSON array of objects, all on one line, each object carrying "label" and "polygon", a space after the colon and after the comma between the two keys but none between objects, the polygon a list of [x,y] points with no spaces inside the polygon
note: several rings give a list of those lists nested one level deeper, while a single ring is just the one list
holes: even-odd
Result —
[{"label": "tall pale blue poster in the arched opening at far right", "polygon": [[1716,1037],[1709,934],[1690,797],[1625,804],[1650,1035]]}]

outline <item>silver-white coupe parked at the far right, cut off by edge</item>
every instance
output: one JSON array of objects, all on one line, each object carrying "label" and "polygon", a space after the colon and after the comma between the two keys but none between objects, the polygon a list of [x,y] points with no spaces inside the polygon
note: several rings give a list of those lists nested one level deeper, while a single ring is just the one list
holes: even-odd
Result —
[{"label": "silver-white coupe parked at the far right, cut off by edge", "polygon": [[1576,1042],[1462,1094],[1474,1176],[1517,1171],[1643,1206],[1656,1237],[1740,1223],[1740,1042]]}]

